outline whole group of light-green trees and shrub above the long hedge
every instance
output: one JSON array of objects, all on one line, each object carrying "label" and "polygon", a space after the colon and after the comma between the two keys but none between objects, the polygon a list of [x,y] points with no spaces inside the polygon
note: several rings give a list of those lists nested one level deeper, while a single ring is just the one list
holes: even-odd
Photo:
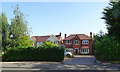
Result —
[{"label": "whole group of light-green trees and shrub above the long hedge", "polygon": [[16,5],[13,13],[15,17],[11,19],[11,24],[8,24],[5,13],[0,15],[0,25],[2,25],[0,26],[0,38],[2,38],[2,47],[5,51],[8,47],[28,47],[32,46],[33,43],[28,35],[27,21],[18,5]]}]

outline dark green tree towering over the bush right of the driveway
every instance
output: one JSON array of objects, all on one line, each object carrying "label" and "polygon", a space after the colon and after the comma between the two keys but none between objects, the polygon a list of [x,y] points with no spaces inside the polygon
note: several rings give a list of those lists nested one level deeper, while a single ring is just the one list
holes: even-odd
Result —
[{"label": "dark green tree towering over the bush right of the driveway", "polygon": [[106,21],[108,35],[120,40],[120,1],[112,1],[109,5],[104,9],[102,19]]}]

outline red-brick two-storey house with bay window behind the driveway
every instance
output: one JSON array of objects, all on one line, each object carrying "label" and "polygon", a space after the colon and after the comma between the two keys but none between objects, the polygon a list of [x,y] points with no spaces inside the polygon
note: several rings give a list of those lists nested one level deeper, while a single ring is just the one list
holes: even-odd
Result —
[{"label": "red-brick two-storey house with bay window behind the driveway", "polygon": [[75,55],[80,53],[92,54],[92,32],[90,36],[85,34],[71,34],[65,39],[63,39],[63,44],[65,46],[65,52],[72,52]]}]

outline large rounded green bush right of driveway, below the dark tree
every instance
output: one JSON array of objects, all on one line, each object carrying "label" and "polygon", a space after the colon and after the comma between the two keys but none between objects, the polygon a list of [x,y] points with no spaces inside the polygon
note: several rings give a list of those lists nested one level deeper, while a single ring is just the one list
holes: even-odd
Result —
[{"label": "large rounded green bush right of driveway, below the dark tree", "polygon": [[95,42],[95,56],[101,61],[120,60],[120,43],[114,37],[104,36]]}]

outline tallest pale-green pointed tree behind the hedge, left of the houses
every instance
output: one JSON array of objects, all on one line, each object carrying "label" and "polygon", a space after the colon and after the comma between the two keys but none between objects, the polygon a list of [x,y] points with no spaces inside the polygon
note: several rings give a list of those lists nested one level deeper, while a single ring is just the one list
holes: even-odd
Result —
[{"label": "tallest pale-green pointed tree behind the hedge, left of the houses", "polygon": [[10,37],[12,39],[11,45],[19,46],[19,37],[28,35],[27,21],[25,20],[25,16],[19,9],[18,5],[16,5],[13,13],[15,16],[11,19],[10,26]]}]

